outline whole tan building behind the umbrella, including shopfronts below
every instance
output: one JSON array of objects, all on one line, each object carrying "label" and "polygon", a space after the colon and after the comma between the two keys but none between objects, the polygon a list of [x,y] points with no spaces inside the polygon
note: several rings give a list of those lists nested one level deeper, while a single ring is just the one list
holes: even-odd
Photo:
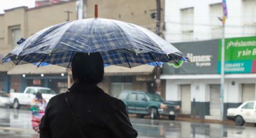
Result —
[{"label": "whole tan building behind the umbrella, including shopfronts below", "polygon": [[[99,17],[131,22],[155,31],[155,17],[152,17],[156,12],[155,0],[87,0],[84,1],[86,18],[94,17],[95,4],[98,4]],[[16,42],[20,38],[28,38],[43,28],[66,22],[66,20],[76,20],[76,6],[74,0],[52,1],[51,4],[38,5],[35,8],[17,7],[5,10],[4,14],[0,14],[0,55],[7,55],[16,47]],[[161,1],[161,7],[164,13],[164,1]],[[161,15],[163,21],[164,14]],[[46,86],[57,92],[64,92],[67,89],[72,79],[66,68],[57,66],[40,68],[31,67],[31,65],[14,67],[10,63],[0,65],[0,89],[6,92],[20,92],[31,85]],[[142,66],[132,70],[108,68],[111,67],[105,68],[104,82],[99,85],[113,96],[129,89],[147,91],[148,85],[151,86],[154,81],[154,67]]]}]

